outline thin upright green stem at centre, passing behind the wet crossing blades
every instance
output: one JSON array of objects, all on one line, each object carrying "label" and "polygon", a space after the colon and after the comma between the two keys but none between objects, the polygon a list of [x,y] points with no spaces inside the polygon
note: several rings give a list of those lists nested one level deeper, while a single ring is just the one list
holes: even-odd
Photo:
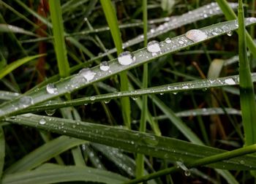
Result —
[{"label": "thin upright green stem at centre, passing behind the wet crossing blades", "polygon": [[[143,34],[144,34],[144,47],[148,43],[148,9],[147,0],[143,0]],[[148,88],[148,64],[143,65],[143,88]],[[142,110],[140,115],[140,132],[146,131],[146,116],[148,110],[148,97],[143,96]],[[138,153],[136,158],[136,177],[141,177],[144,174],[144,155]]]}]

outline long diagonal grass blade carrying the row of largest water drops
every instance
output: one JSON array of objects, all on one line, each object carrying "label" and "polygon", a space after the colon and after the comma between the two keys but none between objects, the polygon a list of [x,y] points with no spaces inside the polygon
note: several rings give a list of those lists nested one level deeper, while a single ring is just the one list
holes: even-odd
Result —
[{"label": "long diagonal grass blade carrying the row of largest water drops", "polygon": [[[256,23],[255,18],[246,18],[246,25],[251,25],[253,23]],[[228,29],[222,28],[223,26],[228,27]],[[118,64],[117,59],[113,59],[112,61],[108,62],[110,69],[107,72],[100,70],[99,66],[94,66],[93,68],[91,68],[91,75],[93,75],[93,77],[91,77],[90,80],[83,77],[83,74],[75,74],[71,77],[66,77],[55,83],[58,93],[48,93],[45,86],[26,93],[25,98],[29,99],[28,104],[21,103],[24,96],[20,96],[19,98],[14,99],[11,103],[5,102],[1,104],[0,108],[2,112],[0,113],[0,118],[7,115],[15,115],[17,114],[17,112],[24,110],[34,104],[39,104],[42,101],[56,98],[57,96],[64,95],[65,93],[77,91],[80,88],[84,88],[87,85],[90,85],[91,83],[95,83],[99,80],[104,80],[105,78],[110,77],[113,74],[118,74],[119,72],[123,72],[127,69],[132,69],[135,66],[146,64],[147,62],[152,61],[155,58],[159,58],[162,55],[175,53],[178,50],[186,49],[189,46],[197,45],[200,42],[206,41],[208,39],[213,39],[214,37],[219,37],[222,34],[227,34],[227,32],[236,29],[236,20],[230,20],[225,23],[217,23],[206,28],[201,28],[200,31],[203,31],[207,35],[207,37],[203,37],[203,39],[197,40],[195,42],[185,37],[185,34],[170,39],[170,42],[160,42],[161,52],[157,55],[152,55],[146,50],[146,48],[137,50],[132,53],[135,56],[135,62],[130,65],[120,65]]]}]

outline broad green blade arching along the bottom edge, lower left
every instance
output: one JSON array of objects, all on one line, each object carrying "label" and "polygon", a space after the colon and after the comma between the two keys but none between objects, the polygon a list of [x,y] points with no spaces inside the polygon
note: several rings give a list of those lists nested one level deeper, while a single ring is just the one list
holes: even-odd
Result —
[{"label": "broad green blade arching along the bottom edge, lower left", "polygon": [[113,172],[85,166],[46,166],[27,172],[4,175],[2,184],[47,184],[75,181],[96,183],[124,183],[127,178]]}]

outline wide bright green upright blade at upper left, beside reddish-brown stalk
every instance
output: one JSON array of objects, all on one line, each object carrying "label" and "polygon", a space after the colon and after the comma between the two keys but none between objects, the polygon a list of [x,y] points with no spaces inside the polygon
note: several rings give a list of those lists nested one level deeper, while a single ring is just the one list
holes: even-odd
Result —
[{"label": "wide bright green upright blade at upper left, beside reddish-brown stalk", "polygon": [[67,50],[64,41],[64,26],[61,17],[61,2],[50,0],[50,18],[53,24],[53,40],[56,52],[59,74],[61,77],[69,76],[69,62],[67,61]]}]

